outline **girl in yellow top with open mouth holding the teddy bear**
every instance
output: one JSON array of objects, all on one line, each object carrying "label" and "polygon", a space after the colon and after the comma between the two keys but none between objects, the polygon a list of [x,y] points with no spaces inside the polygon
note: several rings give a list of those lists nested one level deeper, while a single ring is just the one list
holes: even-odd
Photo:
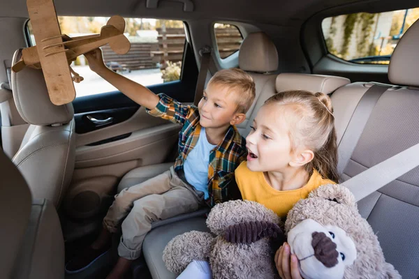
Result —
[{"label": "girl in yellow top with open mouth holding the teddy bear", "polygon": [[[259,202],[281,218],[318,186],[339,181],[330,98],[286,91],[266,100],[246,138],[247,162],[235,170],[243,199]],[[275,255],[281,278],[301,278],[298,260],[284,243]],[[291,264],[290,264],[291,263]],[[207,262],[192,262],[178,278],[211,278]]]}]

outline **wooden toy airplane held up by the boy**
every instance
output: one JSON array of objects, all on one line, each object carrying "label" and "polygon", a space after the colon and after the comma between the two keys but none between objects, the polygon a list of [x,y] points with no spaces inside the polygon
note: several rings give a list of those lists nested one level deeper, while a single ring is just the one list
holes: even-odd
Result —
[{"label": "wooden toy airplane held up by the boy", "polygon": [[69,65],[77,56],[108,43],[117,54],[126,54],[131,47],[124,36],[125,20],[118,15],[110,17],[100,34],[71,38],[61,34],[53,0],[27,0],[27,7],[36,46],[22,50],[22,59],[12,70],[17,73],[25,66],[42,68],[54,105],[64,105],[75,98],[73,81],[81,82],[83,78]]}]

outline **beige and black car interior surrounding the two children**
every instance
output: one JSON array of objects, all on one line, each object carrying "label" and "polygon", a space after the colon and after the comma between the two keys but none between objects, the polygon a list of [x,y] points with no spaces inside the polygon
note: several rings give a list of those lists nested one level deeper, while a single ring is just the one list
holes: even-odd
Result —
[{"label": "beige and black car interior surrounding the two children", "polygon": [[[256,98],[246,120],[237,126],[244,137],[270,96],[287,90],[329,94],[342,181],[419,143],[417,1],[55,0],[54,5],[59,17],[79,20],[112,15],[154,19],[134,21],[137,25],[130,28],[145,32],[129,35],[147,45],[143,34],[159,32],[157,50],[149,45],[137,50],[145,46],[131,41],[128,54],[147,53],[149,60],[131,64],[131,58],[121,62],[123,56],[110,59],[121,59],[120,68],[130,69],[127,77],[154,73],[143,79],[149,82],[147,88],[182,103],[193,103],[198,75],[208,81],[224,68],[249,73]],[[76,86],[72,103],[53,105],[41,70],[10,70],[20,60],[22,48],[34,45],[26,1],[2,0],[0,14],[1,277],[105,278],[117,258],[120,232],[110,252],[89,269],[67,274],[64,264],[96,237],[117,193],[173,165],[180,127],[149,116],[122,92],[102,86],[89,70],[86,75],[96,79],[91,86]],[[163,27],[146,30],[163,20]],[[169,33],[173,22],[180,22],[180,33]],[[220,38],[233,42],[228,33],[214,28],[221,25],[234,27],[234,42],[239,43],[221,50]],[[64,29],[61,24],[63,33]],[[168,47],[169,39],[173,42]],[[210,65],[200,73],[205,47],[211,50]],[[158,63],[150,62],[156,57]],[[166,82],[160,76],[172,67],[163,65],[167,57],[175,57],[181,66],[179,76]],[[166,67],[166,72],[156,67]],[[85,76],[82,83],[88,80]],[[381,93],[371,105],[367,92],[377,87]],[[419,278],[418,187],[416,167],[358,202],[386,261],[407,279]],[[127,278],[176,278],[164,265],[163,249],[184,232],[209,232],[205,225],[209,211],[152,223],[142,256],[133,262]]]}]

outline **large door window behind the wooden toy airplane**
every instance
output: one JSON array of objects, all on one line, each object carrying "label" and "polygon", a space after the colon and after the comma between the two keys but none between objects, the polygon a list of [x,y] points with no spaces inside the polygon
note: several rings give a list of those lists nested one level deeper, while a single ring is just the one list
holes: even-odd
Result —
[{"label": "large door window behind the wooden toy airplane", "polygon": [[[100,33],[109,17],[58,17],[58,20],[61,33],[76,37]],[[185,45],[184,23],[149,18],[125,18],[125,22],[124,35],[131,42],[131,50],[118,55],[109,45],[104,45],[101,50],[105,65],[145,86],[179,80]],[[31,45],[35,45],[30,22],[27,31]],[[84,56],[78,56],[71,67],[84,77],[82,82],[74,84],[77,97],[117,90],[89,69]]]}]

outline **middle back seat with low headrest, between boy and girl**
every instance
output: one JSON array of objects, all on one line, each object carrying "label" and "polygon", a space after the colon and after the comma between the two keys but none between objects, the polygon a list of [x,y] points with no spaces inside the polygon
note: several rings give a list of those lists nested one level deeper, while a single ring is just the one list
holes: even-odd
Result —
[{"label": "middle back seat with low headrest, between boy and girl", "polygon": [[[247,126],[243,128],[242,132],[244,136],[249,133],[249,126],[256,116],[259,108],[263,105],[267,98],[273,96],[277,92],[285,90],[310,90],[320,91],[323,93],[332,93],[335,89],[340,86],[348,84],[350,81],[344,77],[331,77],[327,75],[304,75],[304,74],[280,74],[276,77],[276,85],[273,90],[270,90],[270,86],[265,87],[267,90],[262,90],[259,93],[258,99],[255,100],[253,111],[251,112],[247,121]],[[145,241],[142,245],[142,252],[149,267],[149,271],[152,274],[152,278],[176,278],[176,275],[171,273],[164,266],[162,259],[163,249],[166,247],[168,241],[178,234],[189,232],[191,230],[198,230],[207,232],[207,226],[205,225],[205,216],[201,213],[200,215],[193,213],[193,218],[177,218],[169,219],[154,223],[154,227],[149,234],[145,237]],[[187,216],[189,217],[189,216]],[[179,220],[183,219],[183,220]],[[175,222],[173,222],[176,220]],[[160,224],[160,223],[164,223]]]}]

